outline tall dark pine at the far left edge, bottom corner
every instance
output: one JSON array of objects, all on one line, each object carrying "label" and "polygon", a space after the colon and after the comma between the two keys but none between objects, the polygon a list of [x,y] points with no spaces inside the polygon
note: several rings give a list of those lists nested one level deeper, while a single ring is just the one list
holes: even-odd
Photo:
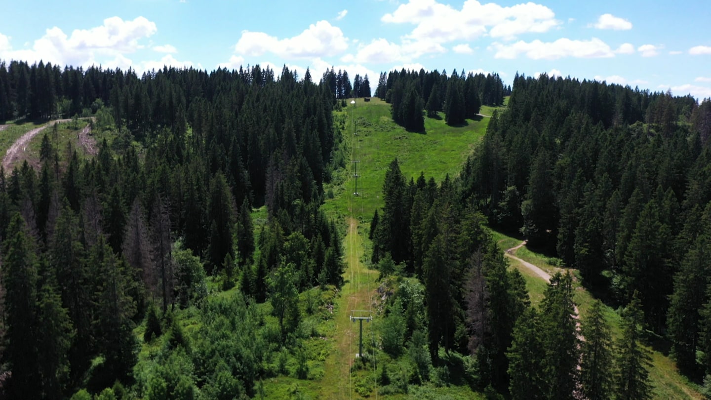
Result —
[{"label": "tall dark pine at the far left edge, bottom corner", "polygon": [[7,228],[3,254],[3,359],[12,372],[9,394],[16,399],[39,399],[37,260],[33,239],[19,213],[12,216]]}]

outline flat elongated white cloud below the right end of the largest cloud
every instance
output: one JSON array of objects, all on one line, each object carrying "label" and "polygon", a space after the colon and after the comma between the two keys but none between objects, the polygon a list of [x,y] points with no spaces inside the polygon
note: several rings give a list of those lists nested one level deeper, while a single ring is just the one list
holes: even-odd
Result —
[{"label": "flat elongated white cloud below the right end of the largest cloud", "polygon": [[538,39],[532,42],[518,41],[510,45],[492,43],[491,49],[496,51],[494,58],[517,58],[525,54],[533,60],[557,60],[565,57],[575,58],[609,58],[614,57],[610,46],[599,38],[589,41],[560,38],[554,42],[542,42]]}]

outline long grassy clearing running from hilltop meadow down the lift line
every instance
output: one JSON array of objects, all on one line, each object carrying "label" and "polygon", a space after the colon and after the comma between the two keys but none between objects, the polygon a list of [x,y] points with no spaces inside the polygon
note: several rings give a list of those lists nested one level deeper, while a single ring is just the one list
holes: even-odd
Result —
[{"label": "long grassy clearing running from hilltop meadow down the lift line", "polygon": [[[363,261],[365,242],[363,227],[382,205],[382,186],[385,170],[392,159],[397,157],[400,169],[406,179],[417,179],[420,172],[426,177],[442,181],[447,174],[454,175],[461,169],[461,164],[481,140],[488,118],[469,120],[464,127],[449,127],[444,120],[425,119],[426,134],[406,132],[395,125],[390,118],[390,105],[373,98],[365,103],[356,100],[353,108],[336,113],[336,119],[343,124],[343,159],[346,169],[341,169],[333,179],[335,184],[326,185],[326,191],[333,193],[333,198],[326,200],[324,211],[334,219],[346,219],[347,233],[344,239],[346,254],[346,280],[341,293],[334,304],[333,320],[324,327],[329,338],[329,351],[325,358],[324,376],[318,380],[319,389],[311,384],[282,379],[269,382],[268,397],[293,396],[295,391],[305,396],[320,399],[360,399],[362,396],[378,395],[378,386],[374,384],[375,372],[372,369],[354,368],[355,353],[358,352],[358,325],[351,322],[351,310],[375,310],[377,302],[378,271],[369,270]],[[353,122],[355,132],[353,135]],[[355,179],[351,159],[358,159],[358,192],[353,196]],[[375,324],[376,322],[373,322]],[[331,339],[332,338],[332,339]],[[373,326],[363,325],[363,345],[373,341]],[[281,379],[281,378],[280,378]],[[275,385],[276,384],[276,385]],[[294,386],[298,385],[298,387]],[[274,387],[277,386],[277,387]],[[287,389],[284,389],[284,388]],[[291,388],[291,389],[289,389]],[[392,399],[412,398],[471,399],[472,392],[466,388],[434,388],[423,386],[415,389],[417,393],[387,396]],[[273,391],[271,391],[273,390]],[[284,391],[287,390],[287,391]]]}]

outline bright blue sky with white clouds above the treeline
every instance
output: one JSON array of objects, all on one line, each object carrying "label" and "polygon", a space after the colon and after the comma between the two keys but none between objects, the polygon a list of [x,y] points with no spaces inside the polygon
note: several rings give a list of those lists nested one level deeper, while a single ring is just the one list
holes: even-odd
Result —
[{"label": "bright blue sky with white clouds above the treeline", "polygon": [[[442,2],[439,2],[442,1]],[[4,0],[0,59],[145,70],[289,65],[570,75],[711,98],[711,4]]]}]

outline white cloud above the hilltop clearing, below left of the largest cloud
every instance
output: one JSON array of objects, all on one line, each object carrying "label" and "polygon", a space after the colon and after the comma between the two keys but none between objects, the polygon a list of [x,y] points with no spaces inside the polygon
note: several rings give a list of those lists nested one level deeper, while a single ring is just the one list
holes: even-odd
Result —
[{"label": "white cloud above the hilltop clearing, below left of the largest cloud", "polygon": [[402,44],[396,44],[385,38],[378,38],[373,39],[367,45],[361,44],[355,56],[346,54],[341,58],[341,61],[375,64],[409,63],[424,54],[446,52],[447,49],[439,43],[404,40]]}]

